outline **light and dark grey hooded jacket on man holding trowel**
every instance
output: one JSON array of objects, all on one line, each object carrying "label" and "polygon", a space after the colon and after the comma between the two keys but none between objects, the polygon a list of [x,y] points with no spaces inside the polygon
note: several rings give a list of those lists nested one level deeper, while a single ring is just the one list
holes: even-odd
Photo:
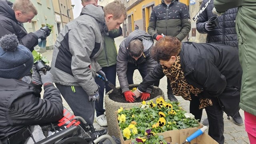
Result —
[{"label": "light and dark grey hooded jacket on man holding trowel", "polygon": [[54,45],[50,72],[55,83],[81,86],[88,95],[98,90],[94,77],[101,70],[96,61],[103,49],[101,32],[108,32],[104,12],[93,4],[86,5],[78,18],[66,24]]}]

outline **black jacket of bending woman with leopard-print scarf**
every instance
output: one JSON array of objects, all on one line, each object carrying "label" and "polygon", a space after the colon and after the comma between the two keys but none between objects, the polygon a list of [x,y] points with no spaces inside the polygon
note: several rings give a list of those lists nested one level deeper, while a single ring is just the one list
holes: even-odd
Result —
[{"label": "black jacket of bending woman with leopard-print scarf", "polygon": [[[237,48],[222,44],[184,42],[180,63],[187,82],[203,90],[200,96],[204,98],[221,95],[227,86],[241,88],[242,68]],[[148,86],[164,75],[159,63],[143,79],[138,89],[145,92]]]}]

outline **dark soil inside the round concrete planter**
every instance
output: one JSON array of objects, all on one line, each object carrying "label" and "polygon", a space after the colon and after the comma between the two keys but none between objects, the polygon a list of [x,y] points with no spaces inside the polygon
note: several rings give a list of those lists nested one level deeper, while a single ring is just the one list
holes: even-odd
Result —
[{"label": "dark soil inside the round concrete planter", "polygon": [[[137,86],[130,86],[130,87],[129,87],[129,89],[132,89],[132,88],[137,88]],[[118,90],[120,91],[119,94],[116,94],[115,92],[112,91],[111,93],[108,94],[108,97],[109,97],[111,100],[115,101],[115,102],[129,103],[129,102],[127,102],[127,101],[125,100],[124,94],[122,94],[122,90],[121,90],[121,89],[118,89]],[[161,90],[161,89],[153,88],[149,100],[151,100],[151,99],[153,99],[153,98],[159,96],[160,94],[162,94],[160,90]],[[142,100],[140,99],[140,97],[136,98],[135,100],[136,100],[136,102],[142,102]]]}]

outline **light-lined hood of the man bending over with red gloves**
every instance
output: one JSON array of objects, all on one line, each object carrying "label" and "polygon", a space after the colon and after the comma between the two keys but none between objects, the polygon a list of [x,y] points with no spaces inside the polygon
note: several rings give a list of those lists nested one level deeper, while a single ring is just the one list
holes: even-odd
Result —
[{"label": "light-lined hood of the man bending over with red gloves", "polygon": [[132,40],[141,40],[144,46],[144,52],[150,50],[151,46],[154,44],[154,39],[151,35],[146,33],[144,30],[134,30],[130,33],[127,38],[121,43],[122,47],[128,48],[129,43]]}]

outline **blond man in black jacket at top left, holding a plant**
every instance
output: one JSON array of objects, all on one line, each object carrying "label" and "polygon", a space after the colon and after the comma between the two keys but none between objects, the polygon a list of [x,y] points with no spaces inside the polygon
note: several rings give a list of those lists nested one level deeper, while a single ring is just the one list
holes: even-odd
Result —
[{"label": "blond man in black jacket at top left, holding a plant", "polygon": [[38,45],[38,38],[46,39],[44,30],[27,33],[23,23],[31,22],[37,10],[30,0],[16,0],[14,4],[8,0],[0,0],[0,38],[6,34],[16,34],[19,44],[31,52]]}]

